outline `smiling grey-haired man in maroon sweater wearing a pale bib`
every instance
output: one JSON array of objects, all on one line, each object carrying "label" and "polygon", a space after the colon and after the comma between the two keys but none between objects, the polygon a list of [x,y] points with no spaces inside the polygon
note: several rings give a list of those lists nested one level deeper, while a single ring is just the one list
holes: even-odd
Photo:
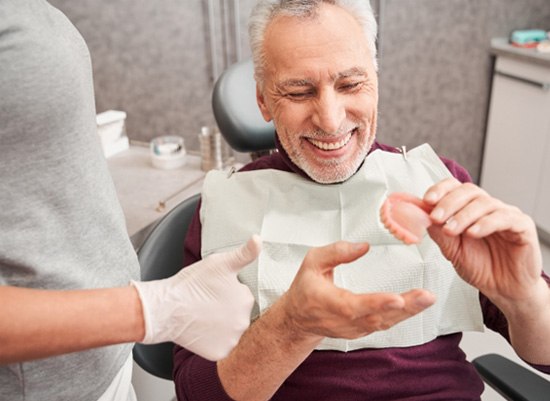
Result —
[{"label": "smiling grey-haired man in maroon sweater wearing a pale bib", "polygon": [[[459,343],[482,323],[550,372],[550,290],[532,220],[452,161],[426,149],[407,160],[375,142],[375,32],[365,0],[254,9],[257,99],[279,152],[207,178],[186,240],[192,262],[259,229],[260,261],[240,275],[254,322],[217,363],[176,349],[180,400],[477,400],[483,384]],[[375,211],[390,189],[415,188],[432,226],[407,247]]]}]

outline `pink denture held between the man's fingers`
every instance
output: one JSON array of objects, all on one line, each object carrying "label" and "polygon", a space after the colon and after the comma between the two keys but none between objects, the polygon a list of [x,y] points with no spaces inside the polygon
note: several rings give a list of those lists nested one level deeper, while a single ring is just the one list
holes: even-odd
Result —
[{"label": "pink denture held between the man's fingers", "polygon": [[429,216],[431,210],[430,205],[416,196],[394,192],[382,205],[380,218],[395,238],[405,244],[416,244],[432,224]]}]

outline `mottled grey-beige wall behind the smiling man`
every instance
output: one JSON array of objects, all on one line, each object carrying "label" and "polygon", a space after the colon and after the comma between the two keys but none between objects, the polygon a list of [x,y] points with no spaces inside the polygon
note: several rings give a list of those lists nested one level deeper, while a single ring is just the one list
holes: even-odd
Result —
[{"label": "mottled grey-beige wall behind the smiling man", "polygon": [[[491,37],[550,29],[548,0],[372,0],[380,17],[379,139],[412,147],[430,142],[478,178],[490,94]],[[163,134],[198,149],[210,110],[212,57],[208,0],[51,0],[86,39],[98,111],[128,112],[131,138]],[[241,0],[241,57],[250,53]],[[222,10],[214,42],[223,68]],[[234,55],[233,55],[234,56]]]}]

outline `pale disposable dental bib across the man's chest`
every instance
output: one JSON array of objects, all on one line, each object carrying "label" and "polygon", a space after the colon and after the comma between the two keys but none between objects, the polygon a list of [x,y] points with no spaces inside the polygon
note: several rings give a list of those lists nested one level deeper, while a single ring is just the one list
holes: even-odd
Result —
[{"label": "pale disposable dental bib across the man's chest", "polygon": [[451,174],[425,144],[406,155],[373,151],[359,171],[341,184],[323,185],[278,170],[206,176],[200,211],[202,257],[241,245],[260,234],[263,247],[256,262],[239,279],[256,299],[253,316],[264,312],[291,285],[311,247],[347,240],[367,241],[369,252],[338,266],[334,283],[354,293],[425,288],[435,305],[386,331],[345,340],[326,338],[317,349],[404,347],[467,330],[483,330],[478,291],[465,283],[439,247],[425,236],[405,245],[383,226],[379,210],[391,192],[422,197]]}]

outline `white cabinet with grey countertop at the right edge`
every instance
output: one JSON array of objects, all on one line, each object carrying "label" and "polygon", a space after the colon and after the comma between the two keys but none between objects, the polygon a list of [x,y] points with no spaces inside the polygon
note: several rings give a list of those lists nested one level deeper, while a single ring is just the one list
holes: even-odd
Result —
[{"label": "white cabinet with grey countertop at the right edge", "polygon": [[550,54],[494,39],[480,185],[529,214],[550,241]]}]

